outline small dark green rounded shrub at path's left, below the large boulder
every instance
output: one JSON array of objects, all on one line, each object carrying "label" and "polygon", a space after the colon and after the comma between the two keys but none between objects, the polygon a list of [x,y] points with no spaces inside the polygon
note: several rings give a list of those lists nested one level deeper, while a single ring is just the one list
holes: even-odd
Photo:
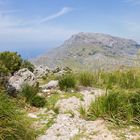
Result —
[{"label": "small dark green rounded shrub at path's left, below the large boulder", "polygon": [[35,107],[44,107],[46,104],[46,100],[44,97],[34,96],[30,101],[32,106]]}]

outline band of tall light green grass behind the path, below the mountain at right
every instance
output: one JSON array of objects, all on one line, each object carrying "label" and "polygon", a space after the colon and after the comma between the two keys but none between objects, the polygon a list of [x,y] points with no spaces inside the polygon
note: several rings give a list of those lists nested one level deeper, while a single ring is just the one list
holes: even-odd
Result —
[{"label": "band of tall light green grass behind the path, below the mountain at right", "polygon": [[115,71],[81,72],[78,74],[79,84],[106,89],[114,87],[124,89],[140,88],[140,69],[131,68]]}]

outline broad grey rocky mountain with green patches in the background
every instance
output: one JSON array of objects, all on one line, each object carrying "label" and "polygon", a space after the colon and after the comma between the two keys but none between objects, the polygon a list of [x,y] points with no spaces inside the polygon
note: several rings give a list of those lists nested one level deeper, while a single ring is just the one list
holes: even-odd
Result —
[{"label": "broad grey rocky mountain with green patches in the background", "polygon": [[63,45],[33,60],[36,65],[74,69],[112,69],[134,66],[140,45],[131,39],[101,33],[78,33]]}]

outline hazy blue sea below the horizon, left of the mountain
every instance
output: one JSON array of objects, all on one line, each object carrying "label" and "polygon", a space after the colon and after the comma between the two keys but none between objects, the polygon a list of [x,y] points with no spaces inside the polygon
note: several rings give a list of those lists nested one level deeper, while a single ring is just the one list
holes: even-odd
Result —
[{"label": "hazy blue sea below the horizon, left of the mountain", "polygon": [[14,51],[18,52],[22,58],[31,59],[58,47],[61,43],[1,43],[0,52]]}]

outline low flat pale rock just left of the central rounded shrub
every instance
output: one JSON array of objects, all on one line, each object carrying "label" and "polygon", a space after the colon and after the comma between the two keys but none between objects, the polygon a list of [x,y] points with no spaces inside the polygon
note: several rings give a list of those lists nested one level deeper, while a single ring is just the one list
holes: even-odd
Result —
[{"label": "low flat pale rock just left of the central rounded shrub", "polygon": [[41,86],[40,88],[43,90],[48,90],[48,89],[56,89],[58,87],[58,80],[52,80],[48,84]]}]

